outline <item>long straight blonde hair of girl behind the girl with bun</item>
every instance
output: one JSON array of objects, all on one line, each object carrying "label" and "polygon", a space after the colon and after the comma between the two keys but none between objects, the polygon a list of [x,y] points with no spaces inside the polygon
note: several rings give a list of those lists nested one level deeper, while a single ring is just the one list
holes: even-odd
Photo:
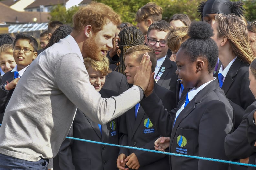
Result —
[{"label": "long straight blonde hair of girl behind the girl with bun", "polygon": [[218,14],[215,16],[215,20],[219,23],[218,36],[229,40],[233,52],[240,61],[251,64],[254,54],[244,21],[234,14]]}]

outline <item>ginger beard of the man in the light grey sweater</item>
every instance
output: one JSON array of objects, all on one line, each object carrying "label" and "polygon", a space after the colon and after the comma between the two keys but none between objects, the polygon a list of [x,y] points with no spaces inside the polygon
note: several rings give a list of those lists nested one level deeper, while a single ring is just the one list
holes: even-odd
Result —
[{"label": "ginger beard of the man in the light grey sweater", "polygon": [[85,57],[89,57],[96,61],[102,61],[103,57],[106,55],[103,55],[101,50],[106,49],[100,49],[96,43],[95,37],[86,39],[83,43],[83,53],[86,54]]}]

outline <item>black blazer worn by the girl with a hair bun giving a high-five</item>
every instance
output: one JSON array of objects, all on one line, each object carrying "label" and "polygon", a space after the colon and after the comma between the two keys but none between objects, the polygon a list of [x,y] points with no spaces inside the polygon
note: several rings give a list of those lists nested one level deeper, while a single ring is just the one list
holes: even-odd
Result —
[{"label": "black blazer worn by the girl with a hair bun giving a high-five", "polygon": [[[176,119],[176,112],[186,100],[184,96],[177,109],[169,113],[155,92],[140,103],[158,132],[170,137],[170,152],[228,160],[224,139],[232,130],[233,109],[217,79],[210,82],[187,104]],[[158,114],[155,114],[158,113]],[[228,164],[170,156],[172,170],[227,170]]]}]

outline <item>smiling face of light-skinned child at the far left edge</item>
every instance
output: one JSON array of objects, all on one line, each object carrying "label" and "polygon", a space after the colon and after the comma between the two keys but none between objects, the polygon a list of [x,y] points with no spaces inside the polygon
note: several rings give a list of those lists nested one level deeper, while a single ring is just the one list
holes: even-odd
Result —
[{"label": "smiling face of light-skinned child at the far left edge", "polygon": [[9,53],[1,53],[0,66],[4,73],[11,71],[16,66],[16,63],[13,59],[13,55]]}]

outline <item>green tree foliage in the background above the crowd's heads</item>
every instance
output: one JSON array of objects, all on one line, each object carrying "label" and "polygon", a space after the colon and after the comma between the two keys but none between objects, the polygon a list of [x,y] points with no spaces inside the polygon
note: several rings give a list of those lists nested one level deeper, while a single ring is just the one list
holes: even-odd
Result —
[{"label": "green tree foliage in the background above the crowd's heads", "polygon": [[[112,7],[118,14],[120,14],[123,22],[130,22],[133,25],[134,17],[139,8],[148,2],[156,2],[163,8],[163,19],[168,21],[169,18],[175,13],[187,14],[191,20],[199,21],[199,13],[197,12],[197,6],[203,0],[98,0],[98,2],[104,3]],[[206,1],[206,0],[204,0]],[[238,0],[234,0],[238,1]],[[240,0],[241,1],[241,0]],[[243,1],[246,9],[245,18],[249,21],[256,19],[256,2],[255,0]],[[68,10],[62,5],[53,7],[50,12],[52,16],[51,20],[59,20],[65,24],[72,25],[72,16],[77,11],[78,7],[72,7]]]}]

